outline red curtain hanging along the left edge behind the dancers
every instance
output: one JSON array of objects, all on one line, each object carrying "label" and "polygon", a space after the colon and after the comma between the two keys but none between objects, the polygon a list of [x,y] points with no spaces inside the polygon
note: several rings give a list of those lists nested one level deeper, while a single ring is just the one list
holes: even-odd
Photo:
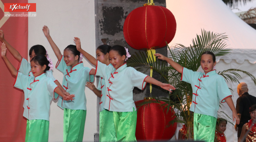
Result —
[{"label": "red curtain hanging along the left edge behind the dancers", "polygon": [[[13,0],[12,3],[28,3],[27,0]],[[10,0],[1,0],[1,5],[10,3]],[[4,18],[4,9],[0,9],[1,30],[5,39],[21,54],[28,57],[28,17]],[[18,67],[18,61],[7,51],[7,57],[14,67]],[[23,115],[24,93],[14,88],[15,77],[10,74],[3,59],[0,59],[0,141],[22,142],[25,141],[26,119]]]}]

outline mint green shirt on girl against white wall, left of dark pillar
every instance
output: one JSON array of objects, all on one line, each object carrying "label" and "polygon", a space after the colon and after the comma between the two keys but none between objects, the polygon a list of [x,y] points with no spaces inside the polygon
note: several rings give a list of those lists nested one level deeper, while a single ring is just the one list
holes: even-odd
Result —
[{"label": "mint green shirt on girl against white wall, left of dark pillar", "polygon": [[69,94],[75,95],[73,101],[65,101],[60,96],[57,105],[61,108],[86,110],[85,84],[86,82],[94,82],[94,75],[90,75],[91,69],[84,67],[83,62],[73,67],[67,66],[63,56],[57,62],[56,68],[64,74],[63,88]]}]

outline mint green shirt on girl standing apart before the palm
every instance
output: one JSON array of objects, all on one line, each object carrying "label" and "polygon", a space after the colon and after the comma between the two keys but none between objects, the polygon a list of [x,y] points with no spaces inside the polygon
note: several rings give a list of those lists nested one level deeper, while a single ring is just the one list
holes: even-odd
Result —
[{"label": "mint green shirt on girl standing apart before the palm", "polygon": [[216,70],[202,73],[183,67],[181,80],[192,86],[193,97],[189,110],[195,113],[217,118],[219,100],[223,103],[225,98],[232,96],[226,81]]}]

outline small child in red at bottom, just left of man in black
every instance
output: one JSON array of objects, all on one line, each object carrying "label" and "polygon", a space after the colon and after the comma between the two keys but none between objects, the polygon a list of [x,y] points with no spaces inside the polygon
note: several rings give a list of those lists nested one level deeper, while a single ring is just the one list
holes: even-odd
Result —
[{"label": "small child in red at bottom, just left of man in black", "polygon": [[216,131],[215,131],[215,142],[226,142],[226,136],[224,132],[226,131],[227,121],[222,118],[218,118],[216,122]]}]

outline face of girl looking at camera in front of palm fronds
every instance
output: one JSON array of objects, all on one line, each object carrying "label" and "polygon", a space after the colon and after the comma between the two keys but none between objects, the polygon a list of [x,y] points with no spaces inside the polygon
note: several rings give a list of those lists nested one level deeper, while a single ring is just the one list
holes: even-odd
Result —
[{"label": "face of girl looking at camera in front of palm fronds", "polygon": [[213,62],[212,56],[210,54],[203,54],[201,56],[201,67],[205,73],[211,71],[216,65],[216,61]]}]

